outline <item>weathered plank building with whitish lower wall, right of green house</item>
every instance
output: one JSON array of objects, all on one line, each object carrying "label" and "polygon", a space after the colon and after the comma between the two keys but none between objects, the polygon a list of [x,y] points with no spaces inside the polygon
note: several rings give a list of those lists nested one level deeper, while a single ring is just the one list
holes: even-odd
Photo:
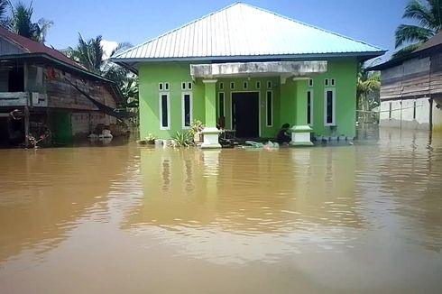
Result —
[{"label": "weathered plank building with whitish lower wall, right of green house", "polygon": [[442,32],[381,70],[382,126],[442,130]]}]

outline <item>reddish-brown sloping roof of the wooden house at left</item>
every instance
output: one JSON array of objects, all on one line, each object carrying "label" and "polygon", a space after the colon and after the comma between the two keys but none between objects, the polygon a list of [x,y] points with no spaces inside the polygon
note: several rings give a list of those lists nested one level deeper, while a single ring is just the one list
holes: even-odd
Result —
[{"label": "reddish-brown sloping roof of the wooden house at left", "polygon": [[72,66],[84,69],[74,60],[69,59],[66,55],[60,51],[49,48],[39,42],[32,41],[31,39],[25,38],[19,34],[6,30],[4,27],[0,26],[0,37],[4,37],[9,41],[12,41],[15,45],[23,49],[25,53],[44,53],[56,60],[60,60],[69,63]]}]

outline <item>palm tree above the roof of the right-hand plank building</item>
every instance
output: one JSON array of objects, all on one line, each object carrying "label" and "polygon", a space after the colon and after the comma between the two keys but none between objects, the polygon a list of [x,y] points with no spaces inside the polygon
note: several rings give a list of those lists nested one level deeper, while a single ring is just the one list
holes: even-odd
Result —
[{"label": "palm tree above the roof of the right-hand plank building", "polygon": [[416,25],[401,24],[395,32],[398,58],[415,51],[420,44],[428,41],[442,26],[442,0],[410,0],[402,18],[414,20]]}]

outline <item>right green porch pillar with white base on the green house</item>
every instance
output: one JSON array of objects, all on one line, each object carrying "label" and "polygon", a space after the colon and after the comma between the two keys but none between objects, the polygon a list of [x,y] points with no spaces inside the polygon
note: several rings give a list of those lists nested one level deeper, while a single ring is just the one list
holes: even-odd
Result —
[{"label": "right green porch pillar with white base on the green house", "polygon": [[308,78],[296,80],[295,124],[291,127],[291,142],[293,146],[313,145],[310,133],[313,131],[307,124],[307,91]]}]

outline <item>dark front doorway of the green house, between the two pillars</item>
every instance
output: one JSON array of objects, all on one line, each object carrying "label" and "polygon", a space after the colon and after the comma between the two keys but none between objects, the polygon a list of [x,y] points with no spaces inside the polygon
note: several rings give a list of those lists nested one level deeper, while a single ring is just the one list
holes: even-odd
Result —
[{"label": "dark front doorway of the green house, between the two pillars", "polygon": [[232,123],[236,137],[258,138],[260,135],[259,94],[232,93]]}]

